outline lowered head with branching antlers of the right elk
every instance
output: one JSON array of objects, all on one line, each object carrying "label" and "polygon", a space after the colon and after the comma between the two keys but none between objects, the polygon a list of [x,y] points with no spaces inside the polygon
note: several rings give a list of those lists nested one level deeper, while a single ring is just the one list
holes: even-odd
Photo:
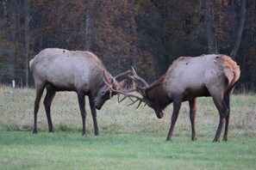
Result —
[{"label": "lowered head with branching antlers of the right elk", "polygon": [[[130,100],[132,100],[132,103],[129,104],[128,106],[133,105],[134,103],[139,101],[139,104],[136,107],[136,108],[138,108],[140,106],[140,104],[142,102],[144,102],[145,105],[150,106],[151,108],[153,108],[153,110],[156,113],[158,118],[163,118],[163,116],[164,116],[163,110],[165,109],[165,106],[159,105],[158,100],[153,100],[153,98],[150,97],[150,94],[148,92],[152,89],[152,87],[149,86],[144,79],[142,79],[140,76],[137,75],[137,73],[135,72],[133,67],[131,67],[131,68],[132,68],[132,70],[129,70],[131,74],[129,74],[127,76],[127,78],[136,82],[135,83],[136,86],[134,88],[132,88],[128,91],[121,91],[121,90],[116,90],[114,87],[112,88],[111,84],[106,83],[106,84],[108,84],[109,89],[113,93],[123,94],[124,97],[122,98],[122,100],[124,100],[126,98],[129,98]],[[142,87],[139,86],[140,84],[142,85]],[[134,92],[134,91],[138,92],[142,97],[131,94],[131,92]],[[122,100],[118,100],[118,101],[121,102]]]}]

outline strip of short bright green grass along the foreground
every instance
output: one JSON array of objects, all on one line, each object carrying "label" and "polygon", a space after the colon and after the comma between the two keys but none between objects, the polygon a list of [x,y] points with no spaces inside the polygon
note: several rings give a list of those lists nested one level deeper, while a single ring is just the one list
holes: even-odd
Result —
[{"label": "strip of short bright green grass along the foreground", "polygon": [[155,135],[1,131],[3,169],[254,169],[254,137],[210,143],[207,137],[172,143]]}]

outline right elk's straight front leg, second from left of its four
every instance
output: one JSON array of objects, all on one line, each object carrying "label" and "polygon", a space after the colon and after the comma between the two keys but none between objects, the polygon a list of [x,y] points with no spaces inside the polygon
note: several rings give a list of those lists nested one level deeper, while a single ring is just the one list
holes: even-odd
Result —
[{"label": "right elk's straight front leg, second from left of its four", "polygon": [[191,129],[192,129],[192,141],[197,140],[197,132],[195,128],[195,118],[196,118],[196,112],[197,112],[197,98],[194,98],[189,101],[190,104],[190,122],[191,122]]}]

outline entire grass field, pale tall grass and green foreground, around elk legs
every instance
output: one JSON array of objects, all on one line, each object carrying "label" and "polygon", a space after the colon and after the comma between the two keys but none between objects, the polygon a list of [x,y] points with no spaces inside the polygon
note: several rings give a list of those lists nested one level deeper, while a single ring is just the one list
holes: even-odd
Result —
[{"label": "entire grass field, pale tall grass and green foreground, around elk legs", "polygon": [[41,104],[34,135],[34,89],[0,87],[0,169],[255,169],[255,99],[252,94],[232,96],[228,143],[211,142],[219,116],[210,98],[198,100],[197,142],[191,142],[184,103],[173,141],[167,143],[172,105],[158,119],[147,106],[119,105],[114,97],[97,112],[99,137],[93,135],[87,105],[83,137],[76,94],[57,93],[52,106],[55,132],[47,132]]}]

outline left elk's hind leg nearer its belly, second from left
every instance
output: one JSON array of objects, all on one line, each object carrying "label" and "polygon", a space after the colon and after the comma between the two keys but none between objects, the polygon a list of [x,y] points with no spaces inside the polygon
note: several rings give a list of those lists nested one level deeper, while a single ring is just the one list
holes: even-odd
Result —
[{"label": "left elk's hind leg nearer its belly, second from left", "polygon": [[53,122],[52,122],[52,118],[51,118],[51,105],[53,102],[53,98],[56,94],[56,91],[51,88],[51,87],[47,87],[47,94],[44,100],[44,106],[45,106],[45,110],[47,112],[47,121],[48,121],[48,130],[49,132],[53,132]]}]

